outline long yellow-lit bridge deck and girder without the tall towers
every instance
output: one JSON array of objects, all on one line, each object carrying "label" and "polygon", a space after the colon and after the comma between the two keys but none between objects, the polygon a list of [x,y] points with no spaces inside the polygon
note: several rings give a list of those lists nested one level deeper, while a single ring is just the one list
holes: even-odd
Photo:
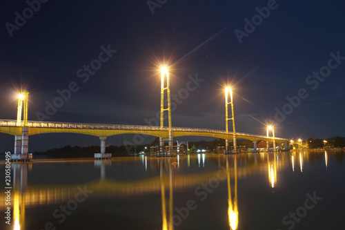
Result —
[{"label": "long yellow-lit bridge deck and girder without the tall towers", "polygon": [[[21,136],[24,126],[23,122],[18,122],[14,119],[0,119],[0,133],[7,133]],[[84,135],[93,135],[99,137],[101,140],[101,153],[105,153],[106,137],[112,135],[120,135],[126,133],[138,133],[145,135],[152,135],[160,138],[168,138],[169,132],[172,132],[173,137],[183,136],[204,136],[216,137],[225,140],[233,139],[233,132],[226,132],[210,128],[185,128],[185,127],[159,127],[159,126],[140,126],[140,125],[125,125],[125,124],[88,124],[88,123],[71,123],[71,122],[41,122],[28,121],[28,135],[37,135],[43,133],[79,133]],[[236,138],[243,138],[254,142],[263,140],[266,142],[277,142],[278,144],[286,144],[288,139],[281,137],[267,137],[264,135],[253,135],[249,133],[235,134]],[[280,145],[281,146],[281,145]],[[287,148],[287,147],[286,147]],[[19,150],[18,150],[19,151]],[[25,152],[24,152],[25,153]]]}]

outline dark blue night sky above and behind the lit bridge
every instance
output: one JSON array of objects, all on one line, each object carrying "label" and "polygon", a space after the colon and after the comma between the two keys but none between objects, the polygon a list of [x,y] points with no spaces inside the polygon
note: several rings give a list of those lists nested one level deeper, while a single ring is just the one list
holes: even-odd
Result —
[{"label": "dark blue night sky above and behind the lit bridge", "polygon": [[[17,92],[26,89],[29,120],[147,125],[160,108],[165,64],[172,126],[224,130],[229,85],[238,132],[266,135],[270,123],[278,137],[344,137],[344,7],[340,0],[6,1],[0,119],[17,118]],[[118,135],[107,144],[124,138],[134,142]],[[30,151],[99,144],[66,133],[29,140]],[[13,145],[0,134],[0,151]]]}]

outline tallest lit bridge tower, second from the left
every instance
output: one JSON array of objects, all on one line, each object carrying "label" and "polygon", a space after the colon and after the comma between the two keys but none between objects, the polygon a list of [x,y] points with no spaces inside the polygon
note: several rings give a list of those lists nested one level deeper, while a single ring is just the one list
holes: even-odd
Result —
[{"label": "tallest lit bridge tower, second from the left", "polygon": [[[166,76],[166,84],[164,83],[164,79]],[[166,87],[165,87],[166,86]],[[166,90],[166,94],[168,97],[168,108],[164,108],[164,91]],[[164,128],[164,111],[168,111],[168,144],[172,146],[172,124],[171,124],[171,102],[170,102],[170,78],[168,69],[163,67],[161,68],[161,128]],[[160,149],[164,150],[164,138],[159,137],[159,146]]]}]

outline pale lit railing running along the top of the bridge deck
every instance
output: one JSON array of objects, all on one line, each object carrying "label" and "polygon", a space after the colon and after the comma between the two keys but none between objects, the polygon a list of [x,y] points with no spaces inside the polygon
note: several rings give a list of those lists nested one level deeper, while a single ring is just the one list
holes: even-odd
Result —
[{"label": "pale lit railing running along the top of the bridge deck", "polygon": [[[0,119],[0,126],[22,126],[17,124],[17,120],[14,119]],[[29,127],[34,128],[80,128],[80,129],[106,129],[106,130],[132,130],[132,131],[168,131],[168,127],[160,128],[159,126],[140,126],[140,125],[126,125],[126,124],[87,124],[87,123],[72,123],[72,122],[39,122],[39,121],[28,121]],[[211,128],[185,128],[185,127],[173,127],[172,131],[180,132],[198,132],[198,133],[217,133],[217,134],[230,134],[233,132],[221,131]],[[236,135],[244,137],[255,137],[267,139],[264,135],[253,135],[249,133],[239,133]],[[271,139],[272,137],[270,137]],[[275,137],[275,140],[287,141],[285,138]]]}]

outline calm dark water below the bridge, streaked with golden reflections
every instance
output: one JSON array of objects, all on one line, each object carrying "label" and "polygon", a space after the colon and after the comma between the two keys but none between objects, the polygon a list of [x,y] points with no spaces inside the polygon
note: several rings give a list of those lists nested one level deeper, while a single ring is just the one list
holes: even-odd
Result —
[{"label": "calm dark water below the bridge, streaked with golden reflections", "polygon": [[344,155],[12,162],[8,229],[345,229]]}]

